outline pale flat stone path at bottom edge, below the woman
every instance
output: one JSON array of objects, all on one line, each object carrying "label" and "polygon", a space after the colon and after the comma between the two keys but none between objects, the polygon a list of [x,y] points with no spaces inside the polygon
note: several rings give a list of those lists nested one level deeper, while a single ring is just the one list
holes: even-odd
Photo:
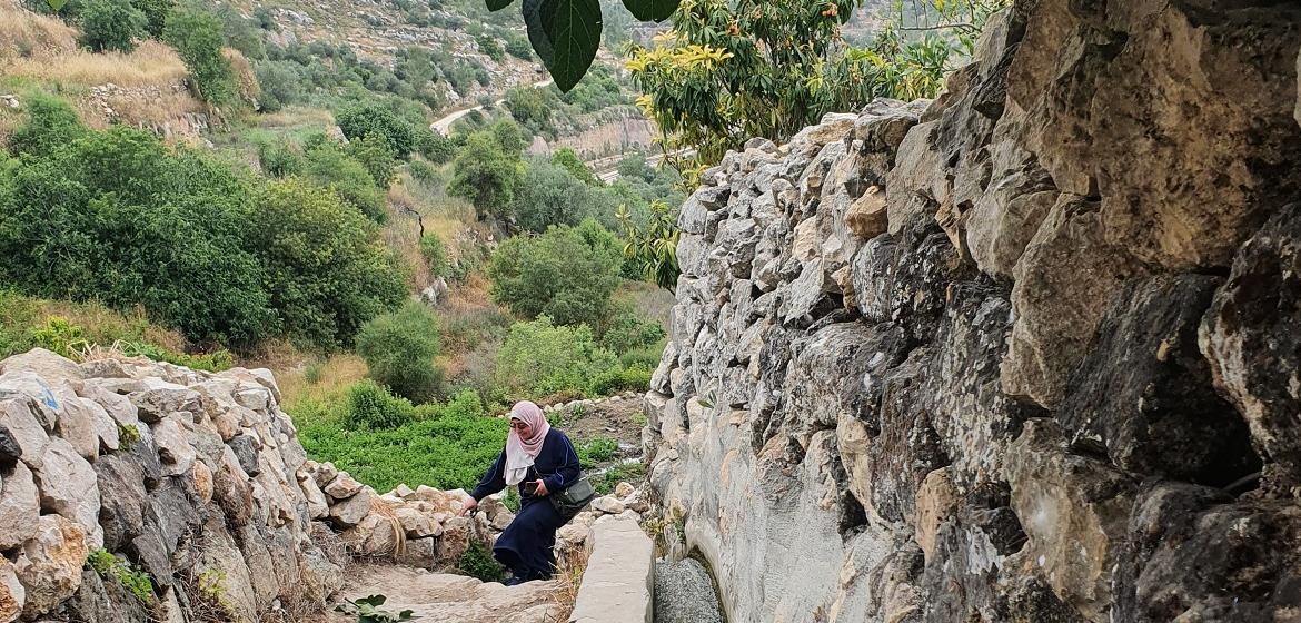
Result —
[{"label": "pale flat stone path at bottom edge, below the woman", "polygon": [[[350,568],[347,576],[342,596],[356,600],[384,594],[388,597],[384,610],[414,610],[420,623],[563,623],[569,614],[557,603],[559,587],[556,581],[505,587],[397,564],[358,566]],[[355,620],[341,613],[327,613],[315,623]]]}]

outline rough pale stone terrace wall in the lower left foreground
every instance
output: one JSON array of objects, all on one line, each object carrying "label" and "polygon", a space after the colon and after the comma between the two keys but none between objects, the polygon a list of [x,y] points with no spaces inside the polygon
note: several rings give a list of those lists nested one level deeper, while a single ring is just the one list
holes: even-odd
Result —
[{"label": "rough pale stone terrace wall in the lower left foreground", "polygon": [[[0,620],[189,620],[198,587],[235,620],[323,603],[341,568],[312,538],[278,398],[267,371],[0,362]],[[157,603],[86,568],[100,548]]]}]

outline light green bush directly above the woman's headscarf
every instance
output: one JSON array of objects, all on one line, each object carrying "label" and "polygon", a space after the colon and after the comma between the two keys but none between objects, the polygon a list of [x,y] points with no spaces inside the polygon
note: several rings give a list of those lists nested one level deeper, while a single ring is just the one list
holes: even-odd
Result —
[{"label": "light green bush directly above the woman's headscarf", "polygon": [[591,378],[615,365],[585,325],[556,326],[546,316],[515,323],[497,351],[497,384],[527,397],[585,394]]}]

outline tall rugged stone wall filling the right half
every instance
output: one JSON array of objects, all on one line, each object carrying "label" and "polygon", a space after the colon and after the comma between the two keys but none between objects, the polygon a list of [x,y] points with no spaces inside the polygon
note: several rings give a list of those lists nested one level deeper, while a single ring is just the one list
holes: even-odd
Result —
[{"label": "tall rugged stone wall filling the right half", "polygon": [[1297,23],[1021,0],[705,172],[644,437],[729,620],[1301,616]]}]

